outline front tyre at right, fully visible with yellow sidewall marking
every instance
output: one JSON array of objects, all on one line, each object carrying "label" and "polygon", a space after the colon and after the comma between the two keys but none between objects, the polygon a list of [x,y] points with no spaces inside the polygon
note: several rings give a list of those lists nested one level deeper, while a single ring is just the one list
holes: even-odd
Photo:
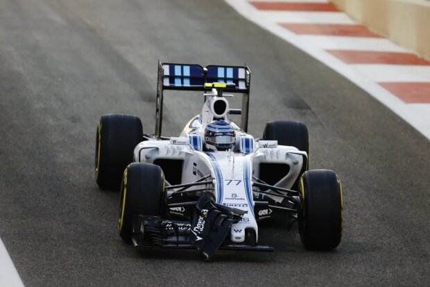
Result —
[{"label": "front tyre at right, fully visible with yellow sidewall marking", "polygon": [[342,186],[332,170],[309,170],[300,178],[302,209],[298,214],[300,239],[306,249],[329,250],[341,243]]}]

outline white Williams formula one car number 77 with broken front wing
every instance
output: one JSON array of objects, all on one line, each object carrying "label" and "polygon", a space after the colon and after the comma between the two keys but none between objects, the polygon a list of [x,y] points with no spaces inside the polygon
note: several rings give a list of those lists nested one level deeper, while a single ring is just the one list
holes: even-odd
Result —
[{"label": "white Williams formula one car number 77 with broken front wing", "polygon": [[[204,92],[201,113],[178,137],[161,135],[164,90]],[[227,95],[241,93],[242,108]],[[341,241],[341,181],[332,170],[308,170],[309,139],[301,122],[268,122],[262,139],[246,133],[248,67],[159,63],[155,134],[139,117],[103,115],[96,133],[96,182],[119,189],[118,231],[139,249],[273,251],[259,244],[257,222],[298,222],[307,249]],[[230,119],[241,115],[241,126]],[[121,181],[122,179],[122,181]]]}]

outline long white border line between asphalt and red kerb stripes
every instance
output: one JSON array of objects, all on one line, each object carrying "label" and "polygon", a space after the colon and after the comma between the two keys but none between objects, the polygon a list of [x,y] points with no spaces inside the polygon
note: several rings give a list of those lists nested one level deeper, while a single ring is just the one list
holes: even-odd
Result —
[{"label": "long white border line between asphalt and red kerb stripes", "polygon": [[[292,33],[291,31],[282,28],[279,24],[268,22],[266,19],[259,17],[259,10],[255,9],[246,0],[225,0],[232,6],[240,15],[246,19],[258,24],[270,33],[277,35],[286,42],[293,44],[295,47],[302,49],[302,51],[320,60],[328,67],[334,69],[339,74],[345,76],[360,88],[368,92],[372,97],[375,97],[382,104],[393,110],[394,113],[402,117],[406,122],[411,124],[415,129],[420,131],[425,137],[430,140],[430,104],[404,104],[404,102],[395,95],[385,90],[373,79],[370,79],[366,74],[357,72],[354,65],[347,65],[338,58],[327,53],[320,47],[309,44],[300,36]],[[416,107],[420,106],[420,107]]]}]

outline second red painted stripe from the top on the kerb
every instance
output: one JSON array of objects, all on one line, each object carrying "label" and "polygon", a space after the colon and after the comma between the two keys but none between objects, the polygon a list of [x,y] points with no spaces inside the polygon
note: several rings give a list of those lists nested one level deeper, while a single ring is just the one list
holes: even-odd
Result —
[{"label": "second red painted stripe from the top on the kerb", "polygon": [[380,38],[379,35],[370,32],[368,28],[361,25],[294,23],[282,23],[280,25],[296,34]]}]

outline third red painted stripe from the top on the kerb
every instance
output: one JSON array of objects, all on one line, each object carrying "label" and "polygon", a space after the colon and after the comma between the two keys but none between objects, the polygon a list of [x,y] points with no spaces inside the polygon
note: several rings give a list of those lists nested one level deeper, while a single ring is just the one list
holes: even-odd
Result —
[{"label": "third red painted stripe from the top on the kerb", "polygon": [[410,53],[326,50],[347,64],[430,65],[430,62]]}]

